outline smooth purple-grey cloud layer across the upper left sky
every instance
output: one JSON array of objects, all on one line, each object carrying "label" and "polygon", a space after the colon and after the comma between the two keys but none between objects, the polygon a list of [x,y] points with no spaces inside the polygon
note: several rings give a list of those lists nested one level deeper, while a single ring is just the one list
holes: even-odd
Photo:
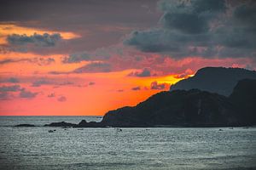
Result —
[{"label": "smooth purple-grey cloud layer across the upper left sky", "polygon": [[156,3],[156,0],[77,0],[76,3],[72,0],[2,0],[0,22],[11,21],[18,26],[40,30],[75,32],[80,38],[68,40],[66,45],[54,51],[55,54],[67,54],[108,47],[134,29],[154,25],[160,17]]}]

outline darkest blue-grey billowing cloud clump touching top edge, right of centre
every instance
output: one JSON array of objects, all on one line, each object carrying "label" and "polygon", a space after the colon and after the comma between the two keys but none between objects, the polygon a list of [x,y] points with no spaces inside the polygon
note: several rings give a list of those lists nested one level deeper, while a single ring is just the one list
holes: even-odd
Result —
[{"label": "darkest blue-grey billowing cloud clump touching top edge, right of centre", "polygon": [[224,0],[162,1],[160,8],[165,12],[161,19],[164,26],[183,33],[199,34],[210,29],[210,22],[218,13],[225,12],[226,4]]}]

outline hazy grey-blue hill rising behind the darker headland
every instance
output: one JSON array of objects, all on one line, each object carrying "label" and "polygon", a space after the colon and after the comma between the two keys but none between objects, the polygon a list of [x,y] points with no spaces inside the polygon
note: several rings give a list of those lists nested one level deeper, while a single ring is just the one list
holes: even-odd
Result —
[{"label": "hazy grey-blue hill rising behind the darker headland", "polygon": [[189,77],[172,85],[170,91],[197,88],[229,96],[236,83],[246,78],[256,79],[256,71],[241,68],[205,67],[197,71],[194,77]]}]

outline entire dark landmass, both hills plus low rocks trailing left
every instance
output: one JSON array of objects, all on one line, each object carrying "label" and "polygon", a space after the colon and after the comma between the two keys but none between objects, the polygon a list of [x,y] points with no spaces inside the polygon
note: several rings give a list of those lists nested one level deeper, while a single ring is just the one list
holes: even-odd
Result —
[{"label": "entire dark landmass, both hills plus low rocks trailing left", "polygon": [[[224,80],[225,77],[228,77],[227,80]],[[255,78],[238,80],[241,77]],[[214,82],[217,79],[223,82]],[[197,80],[196,83],[195,80]],[[225,85],[224,82],[227,84]],[[85,120],[79,124],[52,122],[45,124],[44,127],[241,127],[256,125],[255,71],[207,67],[199,70],[195,77],[177,82],[173,86],[177,89],[173,90],[171,87],[170,91],[154,94],[136,106],[125,106],[108,111],[101,122],[86,122]],[[190,86],[191,89],[183,89]],[[227,96],[230,91],[231,94]],[[17,125],[17,127],[29,126]]]}]

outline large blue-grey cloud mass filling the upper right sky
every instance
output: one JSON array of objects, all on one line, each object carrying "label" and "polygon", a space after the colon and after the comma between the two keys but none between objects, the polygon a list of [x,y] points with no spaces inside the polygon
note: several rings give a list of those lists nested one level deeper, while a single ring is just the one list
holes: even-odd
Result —
[{"label": "large blue-grey cloud mass filling the upper right sky", "polygon": [[160,26],[133,31],[124,41],[173,58],[255,58],[256,3],[225,0],[160,1]]}]

